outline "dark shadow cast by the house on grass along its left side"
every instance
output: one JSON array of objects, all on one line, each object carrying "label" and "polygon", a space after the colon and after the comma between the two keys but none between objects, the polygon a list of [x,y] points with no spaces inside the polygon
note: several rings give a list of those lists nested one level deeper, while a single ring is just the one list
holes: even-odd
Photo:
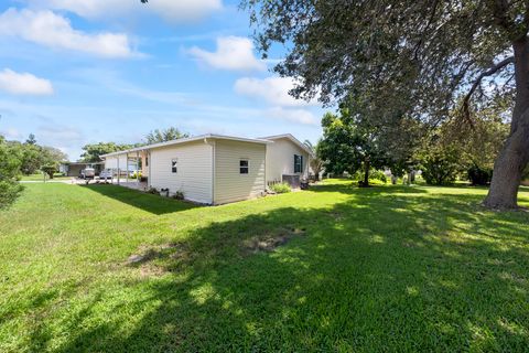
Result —
[{"label": "dark shadow cast by the house on grass along its left side", "polygon": [[[125,186],[94,184],[94,185],[82,185],[82,188],[86,188],[104,196],[114,199],[116,201],[126,203],[133,207],[143,210],[156,215],[186,211],[194,207],[198,207],[198,205],[190,202],[173,200],[169,197],[162,197],[160,195],[147,194],[138,190],[127,189]],[[111,207],[109,205],[94,205],[94,206]]]}]

